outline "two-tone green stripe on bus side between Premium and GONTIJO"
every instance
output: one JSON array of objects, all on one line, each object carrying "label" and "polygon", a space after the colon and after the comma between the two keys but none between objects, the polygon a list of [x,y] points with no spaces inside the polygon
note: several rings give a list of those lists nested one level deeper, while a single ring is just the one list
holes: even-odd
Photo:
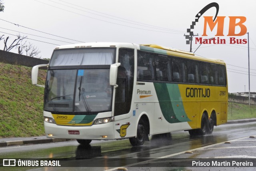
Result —
[{"label": "two-tone green stripe on bus side between Premium and GONTIJO", "polygon": [[169,123],[187,122],[178,84],[154,83],[160,109]]}]

